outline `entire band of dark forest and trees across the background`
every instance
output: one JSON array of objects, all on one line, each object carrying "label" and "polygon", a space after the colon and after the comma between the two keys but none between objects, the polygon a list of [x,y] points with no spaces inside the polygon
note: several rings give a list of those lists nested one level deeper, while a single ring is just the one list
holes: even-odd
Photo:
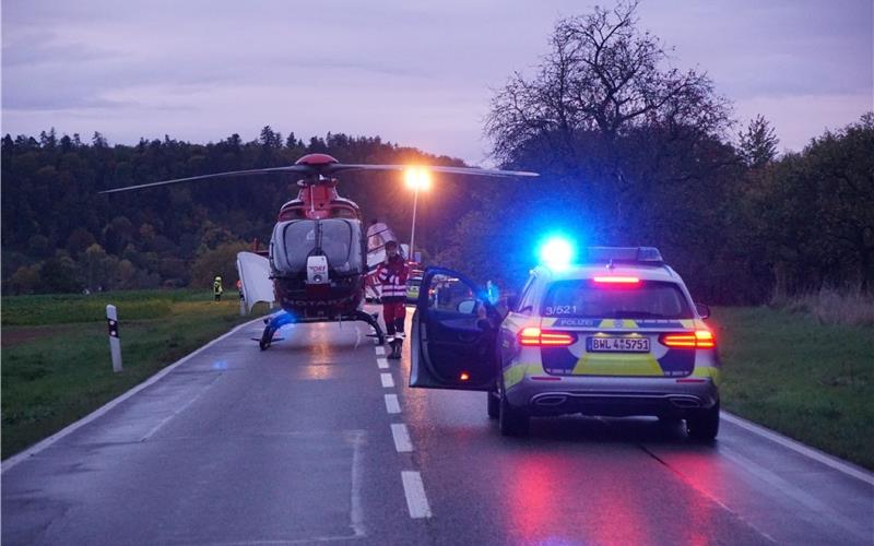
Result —
[{"label": "entire band of dark forest and trees across the background", "polygon": [[[509,78],[485,132],[506,168],[538,179],[445,176],[420,194],[425,262],[517,287],[543,237],[657,246],[696,299],[760,304],[823,288],[874,286],[874,114],[778,156],[759,116],[739,128],[731,104],[693,70],[668,67],[637,28],[637,3],[559,21],[531,76]],[[264,127],[192,144],[166,136],[109,145],[94,133],[2,141],[3,294],[206,286],[234,280],[234,256],[270,236],[294,177],[98,191],[210,173],[291,165],[322,152],[344,163],[463,163],[329,133],[308,142]],[[400,177],[343,177],[365,222],[409,240],[412,194]]]}]

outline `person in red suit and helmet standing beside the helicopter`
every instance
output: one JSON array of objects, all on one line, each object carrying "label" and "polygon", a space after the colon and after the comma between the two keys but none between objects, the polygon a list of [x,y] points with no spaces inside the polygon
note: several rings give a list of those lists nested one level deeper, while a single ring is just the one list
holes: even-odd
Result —
[{"label": "person in red suit and helmet standing beside the helicopter", "polygon": [[379,264],[376,276],[382,286],[382,318],[386,320],[386,340],[391,346],[389,358],[400,358],[403,345],[403,321],[406,318],[406,277],[410,268],[398,251],[398,241],[386,242],[386,260]]}]

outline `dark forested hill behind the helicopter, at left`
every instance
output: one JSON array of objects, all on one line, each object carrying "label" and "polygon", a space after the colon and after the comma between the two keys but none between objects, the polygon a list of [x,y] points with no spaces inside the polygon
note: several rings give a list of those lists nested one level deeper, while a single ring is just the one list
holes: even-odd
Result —
[{"label": "dark forested hill behind the helicopter, at left", "polygon": [[[269,126],[251,142],[233,134],[192,144],[169,136],[109,145],[101,133],[2,140],[4,294],[208,286],[236,278],[238,250],[265,248],[280,206],[297,195],[294,176],[206,180],[129,193],[99,191],[210,173],[291,165],[308,153],[344,163],[461,165],[380,138],[329,133],[307,143]],[[346,178],[346,177],[344,177]],[[397,176],[361,173],[341,183],[365,219],[409,230],[412,197]],[[459,209],[458,194],[440,204]],[[463,209],[463,206],[461,206]],[[446,232],[451,219],[423,215],[420,229]],[[408,226],[402,229],[402,226]]]}]

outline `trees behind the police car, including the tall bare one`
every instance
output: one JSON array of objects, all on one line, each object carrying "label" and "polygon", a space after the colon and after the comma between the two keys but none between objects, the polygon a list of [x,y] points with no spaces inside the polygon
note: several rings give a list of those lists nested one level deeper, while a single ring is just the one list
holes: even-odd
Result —
[{"label": "trees behind the police car, including the tall bare one", "polygon": [[[693,294],[758,304],[874,282],[874,115],[778,158],[761,116],[739,130],[706,74],[670,67],[637,2],[560,20],[531,75],[515,73],[486,120],[508,168],[439,258],[518,282],[520,244],[560,232],[591,246],[657,246]],[[498,260],[496,260],[498,258]]]}]

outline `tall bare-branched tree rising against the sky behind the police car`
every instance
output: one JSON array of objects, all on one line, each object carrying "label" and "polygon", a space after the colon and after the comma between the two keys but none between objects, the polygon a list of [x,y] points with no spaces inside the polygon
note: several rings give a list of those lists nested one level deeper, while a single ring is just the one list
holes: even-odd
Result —
[{"label": "tall bare-branched tree rising against the sky behind the police car", "polygon": [[535,74],[515,73],[485,124],[499,162],[546,171],[559,182],[553,191],[605,216],[599,228],[613,240],[669,230],[659,214],[633,210],[639,195],[652,194],[660,214],[678,221],[666,195],[714,199],[717,171],[736,163],[731,150],[717,150],[729,103],[706,74],[670,67],[661,41],[638,28],[637,7],[559,20]]}]

